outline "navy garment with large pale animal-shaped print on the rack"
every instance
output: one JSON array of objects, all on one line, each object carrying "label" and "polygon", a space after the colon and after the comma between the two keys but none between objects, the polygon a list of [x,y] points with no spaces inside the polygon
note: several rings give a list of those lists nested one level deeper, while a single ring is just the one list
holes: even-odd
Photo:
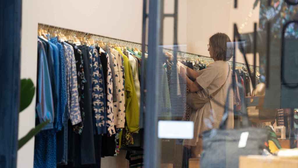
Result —
[{"label": "navy garment with large pale animal-shaped print on the rack", "polygon": [[92,54],[92,109],[97,134],[105,134],[107,131],[107,113],[105,108],[105,85],[103,67],[98,57],[98,51],[90,47]]}]

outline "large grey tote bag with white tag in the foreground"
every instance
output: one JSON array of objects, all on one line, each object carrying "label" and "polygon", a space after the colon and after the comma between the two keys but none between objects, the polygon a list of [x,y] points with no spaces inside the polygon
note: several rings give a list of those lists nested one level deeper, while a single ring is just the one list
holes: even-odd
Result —
[{"label": "large grey tote bag with white tag in the foreground", "polygon": [[[203,132],[201,168],[238,168],[241,155],[261,155],[265,148],[267,130],[250,127],[247,113],[242,118],[241,129],[226,130],[227,104],[219,129]],[[242,106],[245,107],[244,102]]]}]

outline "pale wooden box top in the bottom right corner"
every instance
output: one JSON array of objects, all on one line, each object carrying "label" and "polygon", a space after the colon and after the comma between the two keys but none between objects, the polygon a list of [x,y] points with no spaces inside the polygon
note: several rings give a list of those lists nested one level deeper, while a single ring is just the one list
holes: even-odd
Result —
[{"label": "pale wooden box top in the bottom right corner", "polygon": [[239,168],[298,168],[298,157],[240,156]]}]

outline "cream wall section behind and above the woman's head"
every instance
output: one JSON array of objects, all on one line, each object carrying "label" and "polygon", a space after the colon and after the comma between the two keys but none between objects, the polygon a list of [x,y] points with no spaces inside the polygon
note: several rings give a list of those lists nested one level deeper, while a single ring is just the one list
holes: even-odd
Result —
[{"label": "cream wall section behind and above the woman's head", "polygon": [[[255,0],[238,1],[234,9],[232,0],[187,0],[187,52],[209,56],[207,44],[209,37],[217,32],[226,33],[233,40],[233,24],[238,28],[245,23]],[[253,32],[254,22],[259,23],[259,10],[256,7],[242,33]],[[253,64],[253,55],[247,54],[249,64]],[[236,61],[244,63],[239,51]],[[259,60],[257,58],[257,65]]]}]

